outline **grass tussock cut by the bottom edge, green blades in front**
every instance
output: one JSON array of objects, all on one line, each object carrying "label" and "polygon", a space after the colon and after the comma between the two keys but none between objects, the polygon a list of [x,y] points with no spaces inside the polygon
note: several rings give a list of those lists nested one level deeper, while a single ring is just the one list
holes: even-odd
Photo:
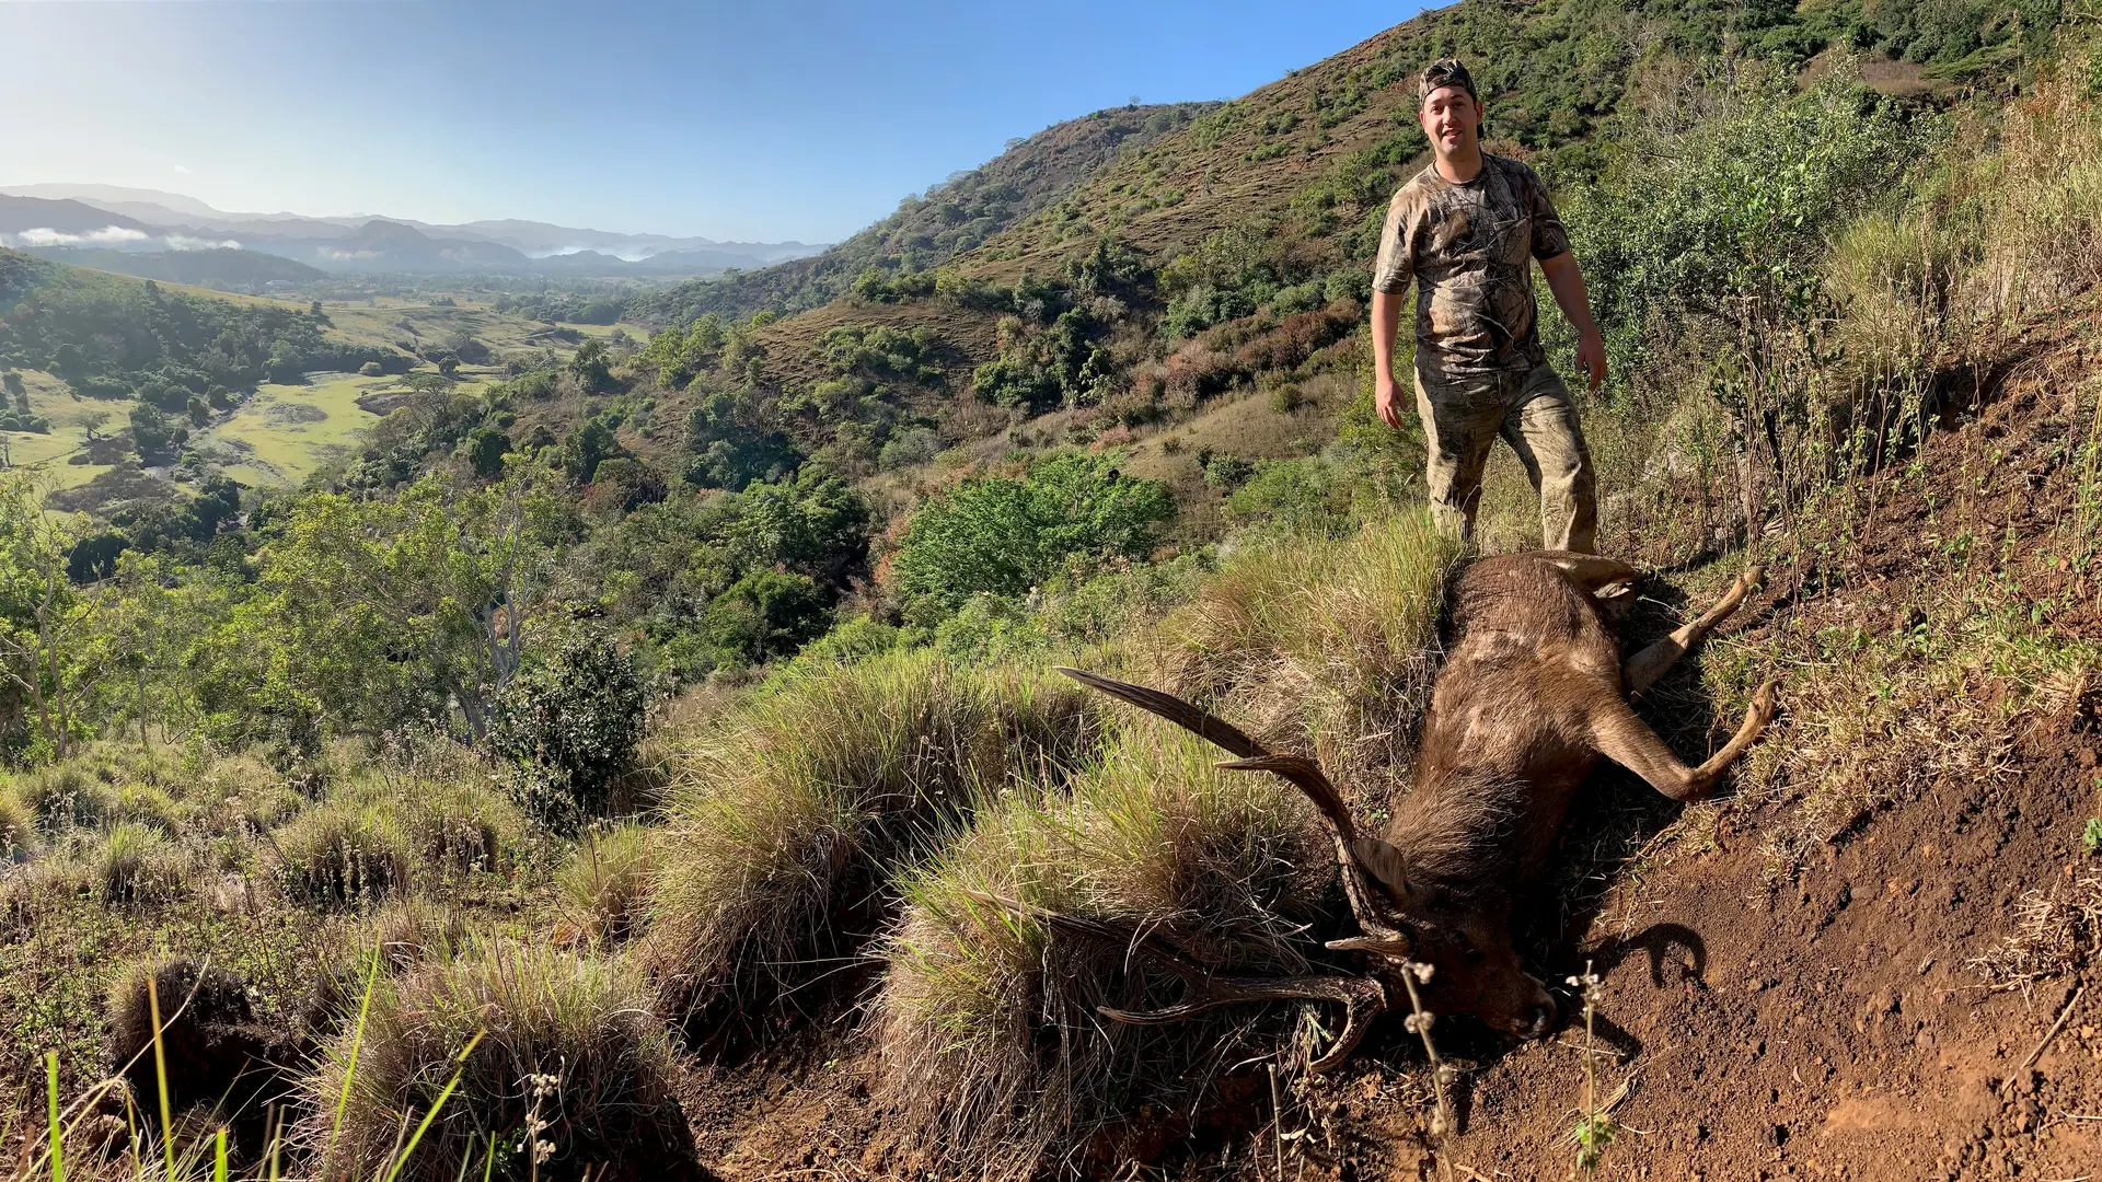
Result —
[{"label": "grass tussock cut by the bottom edge, green blades in front", "polygon": [[347,1022],[301,1083],[315,1176],[389,1176],[454,1079],[397,1178],[692,1176],[673,1049],[620,961],[496,942],[380,976],[362,1037]]}]

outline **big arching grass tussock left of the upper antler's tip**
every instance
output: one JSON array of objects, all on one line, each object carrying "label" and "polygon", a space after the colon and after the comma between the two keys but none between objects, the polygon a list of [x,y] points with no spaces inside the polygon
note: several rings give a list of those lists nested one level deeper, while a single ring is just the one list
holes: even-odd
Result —
[{"label": "big arching grass tussock left of the upper antler's tip", "polygon": [[668,1010],[748,1014],[879,928],[881,871],[982,793],[1057,780],[1097,705],[1040,667],[929,652],[816,669],[761,694],[673,789],[641,949]]}]

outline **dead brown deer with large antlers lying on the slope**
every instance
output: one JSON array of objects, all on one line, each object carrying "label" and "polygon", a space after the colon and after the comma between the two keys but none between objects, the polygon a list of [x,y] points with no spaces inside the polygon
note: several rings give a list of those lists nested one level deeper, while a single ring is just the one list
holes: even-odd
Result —
[{"label": "dead brown deer with large antlers lying on the slope", "polygon": [[[1310,1064],[1320,1071],[1356,1047],[1371,1016],[1389,1005],[1387,982],[1417,961],[1436,970],[1425,989],[1427,1010],[1476,1014],[1518,1037],[1547,1035],[1555,1003],[1520,965],[1511,904],[1547,862],[1579,784],[1606,757],[1671,799],[1698,799],[1774,717],[1768,681],[1722,751],[1698,768],[1679,761],[1635,717],[1629,696],[1646,692],[1734,612],[1759,585],[1759,570],[1747,570],[1701,618],[1623,665],[1600,593],[1635,578],[1635,568],[1623,562],[1562,551],[1488,557],[1461,572],[1448,595],[1452,644],[1423,719],[1415,791],[1396,803],[1383,837],[1358,835],[1349,806],[1312,759],[1268,751],[1232,724],[1158,690],[1062,669],[1238,755],[1221,768],[1274,772],[1297,784],[1335,837],[1343,892],[1362,932],[1331,940],[1328,949],[1366,953],[1373,961],[1366,976],[1219,978],[1139,940],[1135,951],[1179,976],[1188,995],[1162,1010],[1104,1014],[1171,1022],[1242,1001],[1341,1003],[1341,1035]],[[1059,928],[1116,938],[1095,921],[1028,911]]]}]

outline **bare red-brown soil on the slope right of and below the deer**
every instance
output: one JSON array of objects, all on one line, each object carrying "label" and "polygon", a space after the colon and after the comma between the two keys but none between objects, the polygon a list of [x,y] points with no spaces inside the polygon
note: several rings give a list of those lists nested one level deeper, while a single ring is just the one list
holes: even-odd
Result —
[{"label": "bare red-brown soil on the slope right of and below the deer", "polygon": [[[1755,639],[1789,616],[1888,616],[1932,593],[1925,555],[1961,519],[2005,543],[1999,574],[2028,597],[2049,597],[2062,631],[2102,635],[2094,591],[2068,593],[2077,574],[2047,549],[2073,511],[2087,433],[2064,395],[2087,366],[2070,337],[1988,374],[1995,398],[1980,414],[1928,440],[1911,477],[1877,477],[1892,496],[1858,543],[1820,570],[1776,570],[1736,633]],[[1919,494],[1919,473],[1932,496]],[[1629,816],[1644,833],[1677,818],[1677,806],[1627,774],[1602,774],[1579,803],[1589,820],[1572,822],[1560,879],[1589,879],[1589,915],[1579,906],[1558,919],[1547,898],[1532,923],[1547,980],[1560,984],[1587,961],[1604,978],[1598,1094],[1625,1083],[1625,1096],[1598,1176],[2102,1174],[2102,972],[2089,963],[1995,989],[1972,963],[2014,932],[2024,892],[2066,892],[2102,873],[2102,858],[2081,850],[2102,761],[2098,705],[2102,690],[2075,688],[2062,709],[2014,715],[1997,766],[1883,803],[1799,867],[1776,864],[1766,839],[1795,808],[1787,795],[1726,799],[1713,827],[1677,841],[1669,860],[1600,858],[1598,848],[1625,843]],[[1669,724],[1661,719],[1667,734]],[[1690,753],[1698,728],[1679,726],[1673,740]],[[1789,728],[1770,740],[1791,740]],[[1610,877],[1604,890],[1600,875]],[[2066,1022],[2024,1066],[2068,999]],[[874,1056],[849,1033],[858,1018],[839,1014],[769,1062],[696,1079],[687,1110],[702,1159],[731,1180],[925,1176],[931,1163],[883,1132],[870,1100]],[[1440,1043],[1467,1071],[1457,1085],[1463,1132],[1436,1153],[1421,1132],[1421,1049],[1398,1026],[1387,1018],[1354,1062],[1289,1094],[1291,1178],[1574,1174],[1581,1020],[1518,1047],[1465,1022],[1442,1024]],[[1089,1155],[1087,1171],[1276,1174],[1268,1087],[1240,1092],[1249,1100],[1238,1132],[1133,1136]],[[1188,1123],[1156,1127],[1183,1138]]]}]

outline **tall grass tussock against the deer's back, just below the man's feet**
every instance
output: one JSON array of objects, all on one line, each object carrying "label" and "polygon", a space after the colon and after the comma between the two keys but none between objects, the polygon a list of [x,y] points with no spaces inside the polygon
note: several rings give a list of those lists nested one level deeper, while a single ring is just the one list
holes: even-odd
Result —
[{"label": "tall grass tussock against the deer's back, just below the man's feet", "polygon": [[1461,545],[1419,509],[1341,541],[1257,538],[1162,625],[1175,690],[1230,705],[1347,780],[1406,761]]}]

